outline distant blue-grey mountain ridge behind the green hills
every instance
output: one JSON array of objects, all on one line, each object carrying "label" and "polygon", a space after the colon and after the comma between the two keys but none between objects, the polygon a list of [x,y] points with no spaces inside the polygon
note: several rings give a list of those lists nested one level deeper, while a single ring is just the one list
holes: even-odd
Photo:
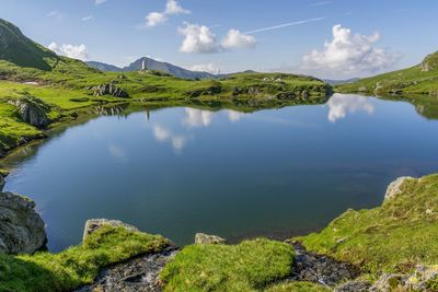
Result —
[{"label": "distant blue-grey mountain ridge behind the green hills", "polygon": [[151,58],[142,57],[134,62],[131,62],[129,66],[119,68],[113,65],[107,65],[104,62],[96,62],[96,61],[90,61],[87,62],[90,67],[99,69],[101,71],[110,71],[110,72],[131,72],[131,71],[139,71],[143,68],[148,70],[157,70],[161,71],[171,75],[174,75],[176,78],[181,79],[216,79],[218,75],[208,73],[208,72],[200,72],[200,71],[191,71],[177,66],[174,66],[169,62],[161,62],[153,60]]}]

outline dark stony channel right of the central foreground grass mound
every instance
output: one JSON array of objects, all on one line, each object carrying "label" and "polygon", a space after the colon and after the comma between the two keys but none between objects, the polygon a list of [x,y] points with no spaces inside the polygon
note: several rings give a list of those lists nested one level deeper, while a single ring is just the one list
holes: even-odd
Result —
[{"label": "dark stony channel right of the central foreground grass mound", "polygon": [[292,243],[292,245],[297,256],[290,280],[334,287],[341,281],[351,280],[359,276],[359,269],[351,264],[309,253],[299,243]]}]

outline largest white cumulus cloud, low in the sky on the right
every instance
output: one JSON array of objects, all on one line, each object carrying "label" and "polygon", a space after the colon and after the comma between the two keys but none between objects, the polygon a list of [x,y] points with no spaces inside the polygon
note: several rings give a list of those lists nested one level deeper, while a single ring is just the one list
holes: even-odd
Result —
[{"label": "largest white cumulus cloud, low in the sky on the right", "polygon": [[303,68],[326,70],[339,74],[371,73],[395,65],[399,54],[376,47],[380,34],[370,36],[351,34],[351,31],[333,26],[332,42],[325,42],[324,50],[312,50],[303,57]]}]

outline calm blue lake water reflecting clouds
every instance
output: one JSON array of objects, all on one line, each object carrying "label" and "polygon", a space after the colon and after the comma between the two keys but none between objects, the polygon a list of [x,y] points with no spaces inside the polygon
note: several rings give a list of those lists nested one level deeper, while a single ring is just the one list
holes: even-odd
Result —
[{"label": "calm blue lake water reflecting clouds", "polygon": [[339,94],[253,114],[103,116],[39,145],[5,189],[36,201],[51,250],[80,243],[91,218],[180,245],[196,232],[284,238],[379,206],[395,177],[437,172],[437,133],[408,103]]}]

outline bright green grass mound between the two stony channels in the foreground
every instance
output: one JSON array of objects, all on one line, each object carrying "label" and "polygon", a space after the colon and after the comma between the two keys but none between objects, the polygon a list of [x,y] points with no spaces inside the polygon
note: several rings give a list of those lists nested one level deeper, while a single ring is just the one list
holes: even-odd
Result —
[{"label": "bright green grass mound between the two stony channels in the foreground", "polygon": [[293,247],[264,238],[191,245],[160,275],[165,291],[256,291],[291,273]]}]

